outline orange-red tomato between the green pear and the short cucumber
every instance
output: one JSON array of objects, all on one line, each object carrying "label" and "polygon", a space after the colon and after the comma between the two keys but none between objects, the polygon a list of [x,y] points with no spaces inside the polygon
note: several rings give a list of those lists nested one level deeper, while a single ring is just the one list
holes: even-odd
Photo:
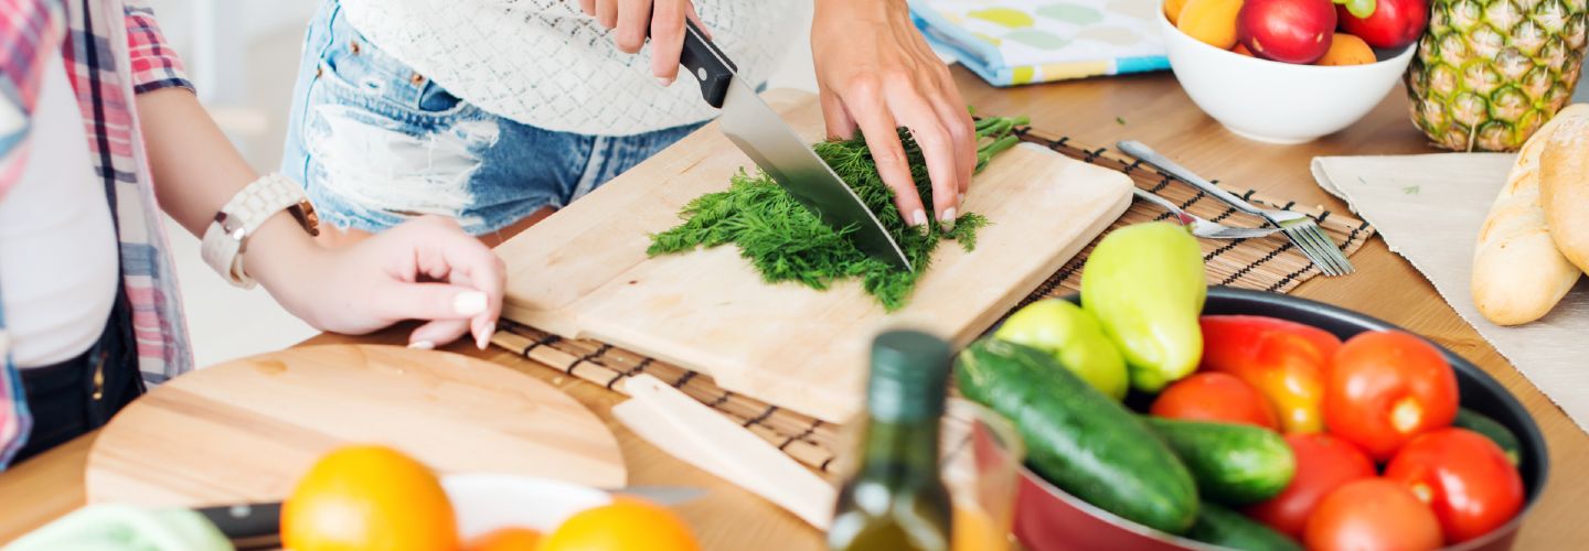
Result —
[{"label": "orange-red tomato between the green pear and the short cucumber", "polygon": [[1230,373],[1197,373],[1179,380],[1154,400],[1160,418],[1243,422],[1276,430],[1274,407],[1251,384]]}]

